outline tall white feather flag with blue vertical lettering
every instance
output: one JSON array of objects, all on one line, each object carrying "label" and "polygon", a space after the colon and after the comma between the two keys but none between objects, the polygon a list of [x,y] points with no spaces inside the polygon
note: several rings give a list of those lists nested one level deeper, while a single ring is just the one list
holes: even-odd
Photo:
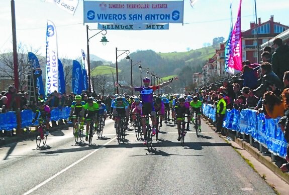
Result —
[{"label": "tall white feather flag with blue vertical lettering", "polygon": [[58,54],[56,28],[47,21],[46,30],[46,93],[58,91]]}]

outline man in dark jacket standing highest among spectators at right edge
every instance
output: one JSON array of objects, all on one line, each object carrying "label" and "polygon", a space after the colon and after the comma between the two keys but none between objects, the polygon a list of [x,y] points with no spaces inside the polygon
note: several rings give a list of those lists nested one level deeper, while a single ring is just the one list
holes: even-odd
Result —
[{"label": "man in dark jacket standing highest among spectators at right edge", "polygon": [[272,55],[273,72],[282,80],[284,72],[289,70],[289,47],[283,44],[280,38],[273,41],[273,47],[275,48]]}]

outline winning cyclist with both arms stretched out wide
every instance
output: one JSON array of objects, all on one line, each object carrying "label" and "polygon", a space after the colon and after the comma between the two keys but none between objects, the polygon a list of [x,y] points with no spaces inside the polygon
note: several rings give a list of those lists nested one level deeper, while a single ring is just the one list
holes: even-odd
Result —
[{"label": "winning cyclist with both arms stretched out wide", "polygon": [[[115,83],[115,86],[117,87],[121,87],[124,89],[129,89],[129,90],[133,90],[133,91],[139,91],[141,94],[141,99],[143,102],[143,107],[142,107],[142,114],[143,115],[148,115],[150,114],[151,117],[151,121],[153,124],[153,134],[155,134],[155,124],[156,124],[156,116],[155,116],[155,110],[153,107],[153,92],[161,87],[164,87],[170,83],[172,83],[173,80],[177,80],[177,78],[172,78],[170,81],[164,82],[160,85],[156,85],[156,86],[150,86],[150,79],[148,77],[145,77],[143,79],[143,84],[144,86],[142,87],[133,87],[133,86],[124,86],[124,85],[120,85],[119,83]],[[142,127],[143,127],[143,134],[145,135],[145,118],[142,118]],[[144,144],[146,144],[146,137],[144,140]]]}]

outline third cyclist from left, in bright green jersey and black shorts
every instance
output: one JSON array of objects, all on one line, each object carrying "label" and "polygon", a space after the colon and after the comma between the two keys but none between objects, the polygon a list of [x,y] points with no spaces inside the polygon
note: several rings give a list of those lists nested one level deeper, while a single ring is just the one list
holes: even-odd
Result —
[{"label": "third cyclist from left, in bright green jersey and black shorts", "polygon": [[[93,118],[97,118],[98,112],[99,112],[99,104],[94,101],[93,97],[89,97],[87,98],[87,103],[84,105],[84,110],[85,112],[87,112],[85,141],[88,141],[88,129],[89,129],[90,120],[92,120]],[[94,129],[95,130],[97,129],[97,120],[95,120]]]}]

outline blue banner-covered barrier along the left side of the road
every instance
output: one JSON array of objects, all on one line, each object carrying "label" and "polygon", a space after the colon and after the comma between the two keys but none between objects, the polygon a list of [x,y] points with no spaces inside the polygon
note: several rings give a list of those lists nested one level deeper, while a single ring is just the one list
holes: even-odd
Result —
[{"label": "blue banner-covered barrier along the left side of the road", "polygon": [[[69,118],[70,107],[64,108],[54,108],[51,110],[50,120],[61,120]],[[36,113],[32,110],[23,110],[21,111],[21,128],[28,127],[32,125],[32,120],[35,117]],[[39,114],[40,115],[40,114]],[[38,116],[39,117],[39,116]],[[38,121],[35,121],[35,125],[38,124]],[[17,120],[15,112],[7,112],[0,114],[0,129],[5,131],[10,131],[14,128],[17,128]]]}]

